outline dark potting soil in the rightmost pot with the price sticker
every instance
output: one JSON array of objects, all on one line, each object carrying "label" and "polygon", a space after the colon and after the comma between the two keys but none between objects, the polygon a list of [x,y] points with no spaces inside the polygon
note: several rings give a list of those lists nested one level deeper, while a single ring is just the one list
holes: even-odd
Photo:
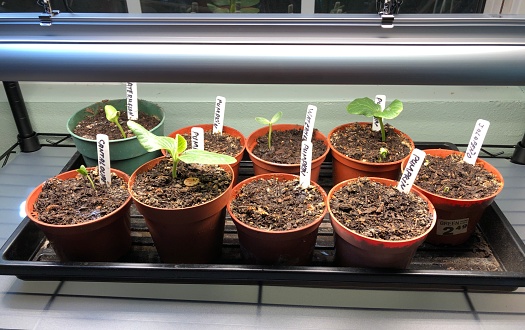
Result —
[{"label": "dark potting soil in the rightmost pot with the price sticker", "polygon": [[415,184],[436,195],[456,199],[479,199],[494,194],[501,182],[480,165],[470,165],[460,154],[426,155]]}]

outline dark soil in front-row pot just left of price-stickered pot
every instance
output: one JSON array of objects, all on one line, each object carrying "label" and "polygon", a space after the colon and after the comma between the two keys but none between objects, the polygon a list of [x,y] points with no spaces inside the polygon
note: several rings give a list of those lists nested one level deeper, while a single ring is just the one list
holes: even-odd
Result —
[{"label": "dark soil in front-row pot just left of price-stickered pot", "polygon": [[339,222],[370,238],[411,239],[423,234],[432,224],[428,205],[421,197],[367,178],[343,186],[329,202]]}]

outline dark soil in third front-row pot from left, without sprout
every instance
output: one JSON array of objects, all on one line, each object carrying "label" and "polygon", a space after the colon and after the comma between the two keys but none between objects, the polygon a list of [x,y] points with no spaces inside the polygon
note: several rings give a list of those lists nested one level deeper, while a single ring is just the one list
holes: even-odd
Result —
[{"label": "dark soil in third front-row pot from left, without sprout", "polygon": [[299,180],[258,179],[245,185],[231,203],[237,219],[258,229],[284,231],[304,227],[323,213],[323,196]]}]

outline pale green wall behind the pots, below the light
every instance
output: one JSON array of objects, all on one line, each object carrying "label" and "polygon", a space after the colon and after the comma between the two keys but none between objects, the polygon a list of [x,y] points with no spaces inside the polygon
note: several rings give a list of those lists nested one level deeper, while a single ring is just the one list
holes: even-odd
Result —
[{"label": "pale green wall behind the pots, below the light", "polygon": [[[21,82],[37,132],[65,133],[71,114],[102,99],[123,98],[124,84]],[[281,123],[303,123],[306,107],[318,107],[316,127],[323,133],[340,124],[363,120],[345,108],[357,97],[386,94],[405,109],[389,121],[415,141],[467,143],[478,118],[491,122],[486,144],[510,144],[525,132],[525,88],[477,86],[327,86],[139,84],[139,97],[158,103],[167,113],[166,130],[210,123],[217,95],[227,99],[225,125],[245,135],[260,127],[256,116],[283,111]],[[16,127],[5,93],[0,92],[0,151],[16,142]]]}]

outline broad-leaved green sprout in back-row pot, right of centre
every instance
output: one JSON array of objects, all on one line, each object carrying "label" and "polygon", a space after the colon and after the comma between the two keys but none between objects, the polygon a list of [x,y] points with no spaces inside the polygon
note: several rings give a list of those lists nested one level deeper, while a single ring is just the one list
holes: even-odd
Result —
[{"label": "broad-leaved green sprout in back-row pot, right of centre", "polygon": [[346,111],[353,115],[364,115],[366,117],[376,117],[381,126],[381,141],[385,142],[385,127],[383,125],[383,118],[394,119],[401,111],[403,111],[403,103],[399,100],[394,100],[384,111],[381,111],[381,106],[376,104],[371,98],[363,97],[353,100],[346,107]]}]

